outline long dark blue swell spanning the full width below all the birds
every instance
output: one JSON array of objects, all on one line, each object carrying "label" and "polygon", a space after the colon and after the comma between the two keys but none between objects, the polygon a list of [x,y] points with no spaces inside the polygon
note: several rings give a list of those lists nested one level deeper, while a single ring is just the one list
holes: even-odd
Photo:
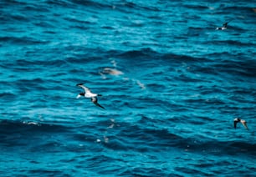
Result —
[{"label": "long dark blue swell spanning the full width below all the birds", "polygon": [[[146,122],[145,122],[146,121]],[[29,120],[8,120],[0,122],[0,138],[2,147],[29,147],[30,150],[45,150],[49,152],[65,149],[68,151],[97,150],[96,139],[106,149],[133,150],[136,152],[161,152],[166,149],[179,149],[197,154],[243,154],[256,156],[256,144],[231,139],[222,142],[218,139],[208,139],[201,136],[182,137],[168,129],[154,126],[159,122],[152,122],[152,126],[144,126],[151,120],[143,117],[136,124],[115,123],[110,120],[92,122],[75,127],[69,124],[37,123]],[[95,131],[97,130],[97,131]],[[100,134],[100,132],[105,132]],[[68,140],[68,141],[67,141]],[[71,143],[77,141],[77,143]],[[76,146],[74,144],[84,144]],[[91,146],[93,145],[93,146]],[[95,149],[96,148],[96,149]]]}]

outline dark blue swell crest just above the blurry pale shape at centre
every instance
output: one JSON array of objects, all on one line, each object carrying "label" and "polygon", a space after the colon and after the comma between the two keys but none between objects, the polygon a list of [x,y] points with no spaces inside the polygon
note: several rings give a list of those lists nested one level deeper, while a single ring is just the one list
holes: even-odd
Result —
[{"label": "dark blue swell crest just above the blurry pale shape at centre", "polygon": [[[56,48],[57,49],[57,48]],[[75,50],[75,51],[81,51],[83,50],[83,53],[78,53],[75,55],[71,55],[70,57],[67,57],[62,60],[49,60],[49,61],[40,61],[40,64],[43,63],[45,65],[48,64],[58,64],[58,63],[71,63],[71,64],[88,64],[88,63],[95,63],[95,62],[102,62],[102,59],[104,58],[118,58],[118,59],[129,59],[130,61],[136,61],[134,63],[127,62],[125,64],[138,64],[141,65],[143,63],[145,64],[154,64],[156,65],[157,60],[166,61],[168,63],[208,63],[211,62],[211,59],[209,58],[197,58],[192,57],[189,55],[179,55],[176,53],[158,53],[155,50],[151,48],[141,48],[137,50],[105,50],[105,48],[84,48],[81,47],[74,47],[74,46],[67,46],[65,50]],[[52,52],[52,51],[50,51]],[[84,55],[85,53],[85,55]],[[20,60],[22,61],[22,60]],[[29,61],[24,61],[25,63]],[[123,62],[122,62],[123,63]],[[78,65],[78,66],[79,66]]]}]

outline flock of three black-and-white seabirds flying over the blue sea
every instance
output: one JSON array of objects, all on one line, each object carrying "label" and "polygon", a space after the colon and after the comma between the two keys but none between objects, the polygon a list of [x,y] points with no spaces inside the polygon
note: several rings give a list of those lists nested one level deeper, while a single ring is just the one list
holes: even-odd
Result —
[{"label": "flock of three black-and-white seabirds flying over the blue sea", "polygon": [[[230,23],[232,20],[230,20],[228,23]],[[216,30],[225,30],[228,28],[228,23],[223,23],[223,27],[218,27],[216,28]],[[85,87],[84,86],[84,83],[78,83],[76,84],[76,86],[80,87],[80,88],[83,88],[84,89],[84,92],[83,93],[80,93],[77,95],[77,99],[79,99],[80,97],[84,97],[84,98],[87,98],[87,99],[90,99],[92,103],[94,103],[96,106],[100,107],[101,109],[105,109],[103,106],[101,106],[99,103],[98,103],[98,96],[102,96],[101,94],[94,94],[90,91],[89,88]],[[239,119],[239,118],[235,118],[233,119],[233,127],[234,129],[237,129],[237,124],[238,123],[241,123],[243,124],[243,127],[245,129],[248,129],[248,126],[247,126],[247,123],[244,119]]]}]

